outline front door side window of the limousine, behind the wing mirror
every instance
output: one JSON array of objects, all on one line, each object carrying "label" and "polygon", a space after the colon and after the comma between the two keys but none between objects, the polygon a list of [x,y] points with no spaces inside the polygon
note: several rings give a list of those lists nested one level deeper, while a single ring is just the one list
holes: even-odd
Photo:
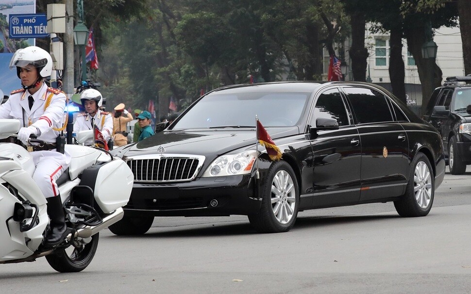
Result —
[{"label": "front door side window of the limousine, behind the wing mirror", "polygon": [[314,107],[314,114],[310,125],[315,126],[316,119],[319,117],[335,118],[339,126],[350,124],[345,104],[343,103],[338,89],[330,89],[320,94],[316,101],[316,106]]}]

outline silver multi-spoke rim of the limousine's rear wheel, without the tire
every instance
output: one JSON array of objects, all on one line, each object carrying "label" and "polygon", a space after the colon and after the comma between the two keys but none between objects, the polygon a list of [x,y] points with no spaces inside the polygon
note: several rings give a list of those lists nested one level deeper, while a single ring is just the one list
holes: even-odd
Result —
[{"label": "silver multi-spoke rim of the limousine's rear wheel, without the tire", "polygon": [[414,171],[414,193],[419,206],[426,209],[432,198],[432,177],[423,161],[417,163]]}]

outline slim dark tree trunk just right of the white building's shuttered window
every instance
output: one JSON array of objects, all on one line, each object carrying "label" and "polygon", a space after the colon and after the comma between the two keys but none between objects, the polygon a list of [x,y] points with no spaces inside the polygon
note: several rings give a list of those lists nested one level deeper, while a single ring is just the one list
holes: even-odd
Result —
[{"label": "slim dark tree trunk just right of the white building's shuttered window", "polygon": [[390,56],[389,56],[389,78],[391,79],[392,94],[401,99],[405,104],[405,69],[402,55],[402,30],[395,28],[391,30],[389,39]]}]

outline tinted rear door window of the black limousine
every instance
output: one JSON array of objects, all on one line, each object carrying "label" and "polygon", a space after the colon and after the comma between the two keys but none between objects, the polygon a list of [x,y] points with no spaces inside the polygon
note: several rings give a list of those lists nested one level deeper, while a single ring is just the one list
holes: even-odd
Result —
[{"label": "tinted rear door window of the black limousine", "polygon": [[393,121],[386,97],[367,88],[345,87],[359,124]]}]

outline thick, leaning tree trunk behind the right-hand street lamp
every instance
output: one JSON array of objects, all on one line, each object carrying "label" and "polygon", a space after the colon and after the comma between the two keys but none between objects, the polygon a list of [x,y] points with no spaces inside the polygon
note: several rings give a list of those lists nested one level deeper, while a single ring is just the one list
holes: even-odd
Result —
[{"label": "thick, leaning tree trunk behind the right-hand street lamp", "polygon": [[404,33],[407,39],[407,47],[412,56],[414,56],[421,81],[423,114],[433,90],[441,84],[442,72],[435,63],[435,59],[422,58],[422,45],[425,42],[423,24],[421,26],[409,27]]}]

